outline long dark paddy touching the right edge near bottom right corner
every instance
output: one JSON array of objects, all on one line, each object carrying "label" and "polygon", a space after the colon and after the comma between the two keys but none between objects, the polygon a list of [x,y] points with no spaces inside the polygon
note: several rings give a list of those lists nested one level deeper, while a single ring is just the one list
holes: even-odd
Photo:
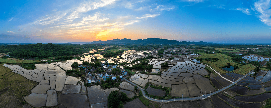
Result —
[{"label": "long dark paddy touching the right edge near bottom right corner", "polygon": [[235,96],[234,99],[244,102],[263,102],[266,99],[271,98],[271,93],[264,93],[254,96]]}]

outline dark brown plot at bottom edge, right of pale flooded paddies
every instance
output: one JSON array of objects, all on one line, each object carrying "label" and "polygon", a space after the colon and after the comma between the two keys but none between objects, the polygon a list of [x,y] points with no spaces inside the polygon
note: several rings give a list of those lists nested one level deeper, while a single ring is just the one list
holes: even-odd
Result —
[{"label": "dark brown plot at bottom edge, right of pale flooded paddies", "polygon": [[89,108],[88,97],[86,95],[74,93],[66,95],[59,94],[58,101],[68,108]]}]

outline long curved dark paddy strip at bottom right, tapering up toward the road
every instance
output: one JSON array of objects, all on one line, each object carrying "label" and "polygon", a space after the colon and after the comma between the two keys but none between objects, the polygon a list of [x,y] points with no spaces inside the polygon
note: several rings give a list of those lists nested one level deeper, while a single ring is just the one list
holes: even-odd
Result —
[{"label": "long curved dark paddy strip at bottom right, tapering up toward the road", "polygon": [[229,104],[235,106],[235,107],[241,107],[241,108],[258,108],[262,107],[262,103],[244,103],[240,102],[234,99],[231,99],[230,97],[225,96],[222,93],[217,94],[221,99],[225,100]]}]

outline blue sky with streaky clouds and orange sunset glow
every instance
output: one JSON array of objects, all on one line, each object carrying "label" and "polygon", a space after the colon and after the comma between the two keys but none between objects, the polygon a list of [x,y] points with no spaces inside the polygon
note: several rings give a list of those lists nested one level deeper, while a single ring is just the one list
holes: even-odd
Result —
[{"label": "blue sky with streaky clouds and orange sunset glow", "polygon": [[4,0],[0,43],[271,43],[270,0]]}]

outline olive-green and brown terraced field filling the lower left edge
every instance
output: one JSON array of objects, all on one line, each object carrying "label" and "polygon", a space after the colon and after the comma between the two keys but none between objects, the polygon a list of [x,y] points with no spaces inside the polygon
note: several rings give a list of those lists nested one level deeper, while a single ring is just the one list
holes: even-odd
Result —
[{"label": "olive-green and brown terraced field filling the lower left edge", "polygon": [[12,72],[11,69],[0,66],[0,107],[22,107],[23,97],[30,94],[38,82],[26,79]]}]

